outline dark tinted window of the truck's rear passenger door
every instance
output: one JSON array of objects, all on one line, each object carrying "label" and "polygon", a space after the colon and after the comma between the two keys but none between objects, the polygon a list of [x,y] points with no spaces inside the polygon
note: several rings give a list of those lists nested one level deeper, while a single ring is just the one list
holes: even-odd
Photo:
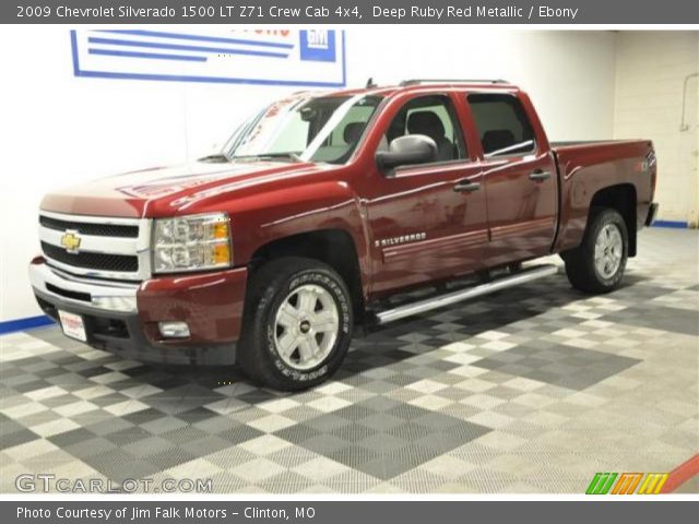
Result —
[{"label": "dark tinted window of the truck's rear passenger door", "polygon": [[486,157],[534,151],[534,132],[520,100],[512,95],[469,95],[471,114]]}]

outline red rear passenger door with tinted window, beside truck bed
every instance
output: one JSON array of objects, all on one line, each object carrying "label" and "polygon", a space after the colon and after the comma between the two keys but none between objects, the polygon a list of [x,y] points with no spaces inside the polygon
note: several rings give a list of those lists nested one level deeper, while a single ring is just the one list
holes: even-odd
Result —
[{"label": "red rear passenger door with tinted window, beside truck bed", "polygon": [[513,93],[470,93],[481,139],[490,243],[487,265],[547,254],[556,230],[556,166]]}]

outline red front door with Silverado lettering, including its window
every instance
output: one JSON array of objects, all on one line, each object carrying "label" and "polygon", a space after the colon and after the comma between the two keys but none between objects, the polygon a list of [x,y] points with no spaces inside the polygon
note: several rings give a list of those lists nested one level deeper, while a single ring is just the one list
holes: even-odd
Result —
[{"label": "red front door with Silverado lettering, including its window", "polygon": [[[372,293],[470,273],[481,265],[488,231],[482,167],[464,141],[460,100],[412,95],[394,109],[379,148],[405,134],[437,144],[435,162],[377,167],[368,184]],[[387,110],[389,110],[387,108]]]}]

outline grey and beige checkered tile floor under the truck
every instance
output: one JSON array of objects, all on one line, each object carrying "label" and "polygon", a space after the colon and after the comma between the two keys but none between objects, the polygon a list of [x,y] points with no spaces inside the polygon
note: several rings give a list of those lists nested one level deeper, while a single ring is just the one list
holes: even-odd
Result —
[{"label": "grey and beige checkered tile floor under the truck", "polygon": [[56,327],[2,336],[0,489],[50,473],[580,493],[596,472],[671,471],[699,450],[699,235],[644,230],[639,251],[617,293],[558,275],[408,319],[300,394],[122,360]]}]

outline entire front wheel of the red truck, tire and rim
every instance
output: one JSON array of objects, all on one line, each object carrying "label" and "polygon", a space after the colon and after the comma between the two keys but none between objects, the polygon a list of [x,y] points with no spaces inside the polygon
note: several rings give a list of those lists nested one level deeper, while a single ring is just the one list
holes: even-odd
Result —
[{"label": "entire front wheel of the red truck, tire and rim", "polygon": [[254,381],[301,390],[342,364],[353,331],[352,299],[342,277],[311,259],[283,258],[251,277],[238,361]]}]

